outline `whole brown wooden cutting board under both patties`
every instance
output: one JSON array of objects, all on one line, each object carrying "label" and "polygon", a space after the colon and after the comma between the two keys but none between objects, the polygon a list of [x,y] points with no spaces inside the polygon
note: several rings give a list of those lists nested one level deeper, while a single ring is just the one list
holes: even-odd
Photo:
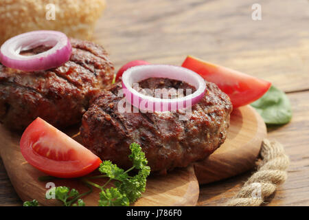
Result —
[{"label": "whole brown wooden cutting board under both patties", "polygon": [[[67,133],[71,134],[71,131]],[[27,164],[21,155],[20,137],[20,133],[0,126],[0,155],[17,194],[23,201],[36,199],[44,206],[60,204],[56,199],[45,199],[51,184],[38,181],[44,173]],[[187,168],[173,170],[165,176],[149,177],[146,192],[133,206],[195,206],[199,184],[232,177],[252,168],[264,137],[266,126],[253,108],[246,106],[234,110],[227,140],[217,151]],[[50,182],[55,186],[76,188],[80,192],[88,190],[76,179],[54,179]],[[98,199],[99,191],[94,190],[84,197],[84,202],[87,206],[97,206]]]}]

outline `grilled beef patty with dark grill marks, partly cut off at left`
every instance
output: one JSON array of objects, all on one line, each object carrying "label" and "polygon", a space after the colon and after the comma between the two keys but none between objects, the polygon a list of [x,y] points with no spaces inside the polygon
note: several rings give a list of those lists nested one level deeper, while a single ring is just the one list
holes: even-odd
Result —
[{"label": "grilled beef patty with dark grill marks, partly cut off at left", "polygon": [[[37,117],[58,128],[81,121],[89,100],[111,84],[114,67],[99,45],[70,41],[71,58],[54,69],[23,72],[0,63],[0,122],[21,130]],[[36,47],[21,54],[38,54],[48,49]]]}]

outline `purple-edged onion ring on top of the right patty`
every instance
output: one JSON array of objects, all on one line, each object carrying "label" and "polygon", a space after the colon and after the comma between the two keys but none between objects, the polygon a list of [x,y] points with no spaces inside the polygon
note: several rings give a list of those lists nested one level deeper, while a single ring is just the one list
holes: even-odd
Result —
[{"label": "purple-edged onion ring on top of the right patty", "polygon": [[[193,94],[182,98],[163,99],[146,96],[133,89],[133,83],[147,78],[170,78],[179,80],[196,88]],[[140,65],[127,69],[122,75],[122,88],[126,100],[142,111],[174,111],[185,109],[198,103],[205,94],[205,80],[196,72],[173,65]],[[142,103],[142,104],[141,104]]]}]

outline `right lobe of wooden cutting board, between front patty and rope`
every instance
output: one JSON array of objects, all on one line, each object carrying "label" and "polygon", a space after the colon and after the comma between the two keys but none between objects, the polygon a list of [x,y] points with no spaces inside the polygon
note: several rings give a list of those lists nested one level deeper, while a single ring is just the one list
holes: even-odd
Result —
[{"label": "right lobe of wooden cutting board, between front patty and rope", "polygon": [[208,184],[253,168],[264,137],[265,123],[252,107],[233,110],[227,140],[207,159],[194,163],[198,183]]}]

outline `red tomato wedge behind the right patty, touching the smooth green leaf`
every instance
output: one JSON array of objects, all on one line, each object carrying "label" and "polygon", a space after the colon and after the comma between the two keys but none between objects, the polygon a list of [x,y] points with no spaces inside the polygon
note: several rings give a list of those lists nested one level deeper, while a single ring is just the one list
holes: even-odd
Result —
[{"label": "red tomato wedge behind the right patty, touching the smooth green leaf", "polygon": [[271,83],[265,80],[227,67],[207,63],[193,56],[187,56],[182,67],[191,69],[211,83],[216,83],[229,96],[233,108],[258,100],[271,87]]}]

